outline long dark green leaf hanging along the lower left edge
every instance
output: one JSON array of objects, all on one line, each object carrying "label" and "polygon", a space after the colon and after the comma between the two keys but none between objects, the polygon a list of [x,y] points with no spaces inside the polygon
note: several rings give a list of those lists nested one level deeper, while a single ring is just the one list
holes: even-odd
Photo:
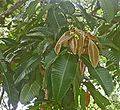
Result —
[{"label": "long dark green leaf hanging along the lower left edge", "polygon": [[[4,56],[0,51],[0,73],[3,76],[3,85],[9,97],[9,102],[13,107],[17,107],[18,91],[15,88],[13,81],[13,73],[8,69],[7,64],[4,62]],[[10,105],[9,105],[10,106]]]}]

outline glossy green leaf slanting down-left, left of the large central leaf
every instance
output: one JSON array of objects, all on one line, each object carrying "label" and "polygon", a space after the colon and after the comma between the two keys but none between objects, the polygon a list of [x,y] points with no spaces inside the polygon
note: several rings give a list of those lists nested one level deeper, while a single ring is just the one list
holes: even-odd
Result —
[{"label": "glossy green leaf slanting down-left, left of the large central leaf", "polygon": [[20,64],[16,69],[15,83],[19,83],[27,74],[31,73],[40,64],[40,56],[33,55],[30,59]]}]

